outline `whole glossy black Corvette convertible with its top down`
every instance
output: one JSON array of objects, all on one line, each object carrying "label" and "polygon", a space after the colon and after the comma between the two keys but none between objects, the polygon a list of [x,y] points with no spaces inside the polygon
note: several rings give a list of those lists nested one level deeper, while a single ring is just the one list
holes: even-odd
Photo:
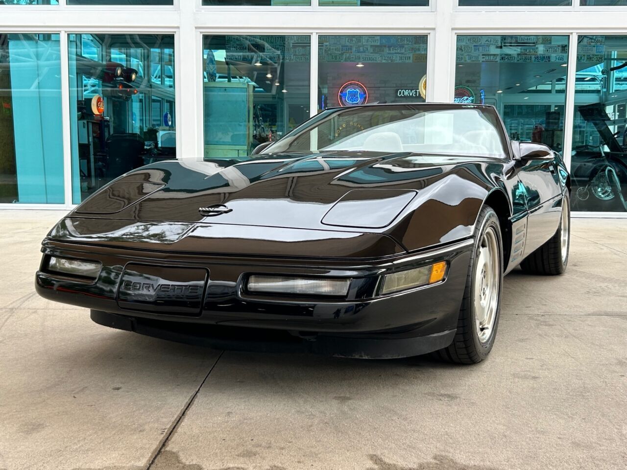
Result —
[{"label": "whole glossy black Corvette convertible with its top down", "polygon": [[561,274],[571,181],[493,107],[325,110],[240,161],[114,180],[43,241],[41,296],[217,348],[487,357],[503,274]]}]

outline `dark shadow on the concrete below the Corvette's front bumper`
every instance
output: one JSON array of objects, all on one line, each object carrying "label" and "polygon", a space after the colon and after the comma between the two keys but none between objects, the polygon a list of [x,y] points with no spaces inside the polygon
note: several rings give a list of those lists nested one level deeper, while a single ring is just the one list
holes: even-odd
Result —
[{"label": "dark shadow on the concrete below the Corvette's front bumper", "polygon": [[[74,370],[97,373],[110,382],[146,380],[150,387],[171,380],[172,371],[201,369],[207,372],[221,351],[208,347],[186,345],[129,332],[108,332],[97,341],[79,343],[51,352],[49,360],[64,363]],[[52,367],[52,366],[51,366]],[[236,376],[255,377],[259,385],[263,377],[290,377],[304,382],[343,382],[350,377],[369,376],[380,380],[408,375],[438,375],[443,371],[463,370],[464,367],[442,362],[429,355],[402,359],[371,360],[329,357],[308,353],[259,353],[227,350],[212,374],[221,370]],[[202,375],[202,374],[201,374]],[[457,374],[453,374],[457,375]],[[203,376],[204,377],[204,376]],[[213,377],[213,375],[212,375]],[[405,379],[404,379],[405,380]],[[379,382],[379,380],[374,380]],[[144,384],[146,385],[146,384]],[[341,400],[338,399],[338,400]]]}]

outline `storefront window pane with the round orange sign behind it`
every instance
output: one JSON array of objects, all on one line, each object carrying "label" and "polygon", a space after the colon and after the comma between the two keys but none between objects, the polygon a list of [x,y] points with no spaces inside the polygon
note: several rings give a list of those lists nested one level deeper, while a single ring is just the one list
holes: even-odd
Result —
[{"label": "storefront window pane with the round orange sign behind it", "polygon": [[174,36],[70,34],[68,48],[78,204],[127,171],[176,157]]}]

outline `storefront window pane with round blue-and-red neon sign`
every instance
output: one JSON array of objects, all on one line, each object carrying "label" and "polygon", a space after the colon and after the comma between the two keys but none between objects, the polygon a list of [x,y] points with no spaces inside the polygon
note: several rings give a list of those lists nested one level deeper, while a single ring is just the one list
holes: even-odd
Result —
[{"label": "storefront window pane with round blue-and-red neon sign", "polygon": [[318,109],[424,102],[427,36],[319,36]]}]

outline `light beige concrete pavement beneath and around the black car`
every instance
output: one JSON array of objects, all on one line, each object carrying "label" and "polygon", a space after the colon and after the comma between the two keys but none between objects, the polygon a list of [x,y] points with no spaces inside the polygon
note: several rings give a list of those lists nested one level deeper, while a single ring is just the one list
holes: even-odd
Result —
[{"label": "light beige concrete pavement beneath and around the black car", "polygon": [[219,352],[33,291],[63,214],[2,211],[0,469],[627,467],[627,220],[573,219],[564,276],[505,278],[487,361]]}]

